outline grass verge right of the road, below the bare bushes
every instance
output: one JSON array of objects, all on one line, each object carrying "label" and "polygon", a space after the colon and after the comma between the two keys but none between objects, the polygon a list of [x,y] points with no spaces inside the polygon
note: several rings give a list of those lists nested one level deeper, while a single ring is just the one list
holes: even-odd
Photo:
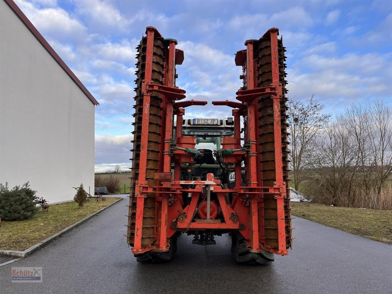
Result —
[{"label": "grass verge right of the road, below the bare bushes", "polygon": [[392,244],[392,211],[291,202],[293,215],[351,234]]}]

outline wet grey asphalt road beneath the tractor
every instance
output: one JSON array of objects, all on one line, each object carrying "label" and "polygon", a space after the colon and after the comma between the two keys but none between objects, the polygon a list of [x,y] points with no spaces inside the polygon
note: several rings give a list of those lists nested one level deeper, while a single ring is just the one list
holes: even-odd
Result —
[{"label": "wet grey asphalt road beneath the tractor", "polygon": [[[243,266],[228,236],[217,245],[178,239],[174,261],[136,263],[125,243],[120,201],[32,256],[0,267],[10,293],[392,293],[392,246],[297,218],[294,247],[271,266]],[[11,283],[11,267],[43,267],[42,283]]]}]

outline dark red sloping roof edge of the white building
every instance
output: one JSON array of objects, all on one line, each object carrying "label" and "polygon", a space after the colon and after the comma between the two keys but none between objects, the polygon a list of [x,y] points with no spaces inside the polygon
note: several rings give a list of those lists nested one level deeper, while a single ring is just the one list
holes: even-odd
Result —
[{"label": "dark red sloping roof edge of the white building", "polygon": [[98,101],[94,98],[94,96],[87,90],[87,88],[83,85],[82,82],[78,79],[78,77],[71,71],[68,65],[58,56],[56,51],[52,48],[51,45],[45,40],[45,38],[38,32],[38,30],[34,27],[34,25],[30,22],[30,20],[25,16],[25,14],[20,10],[18,5],[13,0],[4,0],[9,7],[16,13],[17,16],[24,22],[24,24],[29,28],[31,33],[37,38],[38,41],[45,47],[45,49],[52,55],[52,57],[57,61],[57,63],[64,69],[64,71],[74,80],[74,82],[80,87],[80,89],[86,94],[86,96],[94,103],[94,105],[99,105]]}]

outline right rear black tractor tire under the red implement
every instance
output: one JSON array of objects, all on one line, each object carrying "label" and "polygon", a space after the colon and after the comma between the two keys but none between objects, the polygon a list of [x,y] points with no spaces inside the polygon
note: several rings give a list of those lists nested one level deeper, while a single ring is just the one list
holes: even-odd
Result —
[{"label": "right rear black tractor tire under the red implement", "polygon": [[237,263],[249,265],[270,265],[275,259],[271,252],[250,252],[243,236],[239,233],[232,235],[231,253]]}]

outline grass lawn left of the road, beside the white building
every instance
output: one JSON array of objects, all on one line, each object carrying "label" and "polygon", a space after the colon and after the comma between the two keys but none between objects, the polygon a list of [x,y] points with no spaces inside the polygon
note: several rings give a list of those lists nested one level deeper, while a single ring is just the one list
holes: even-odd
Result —
[{"label": "grass lawn left of the road, beside the white building", "polygon": [[106,197],[106,201],[91,199],[79,209],[72,201],[51,205],[49,211],[40,210],[30,219],[23,221],[3,221],[0,228],[0,249],[23,251],[45,240],[62,229],[89,216],[116,201],[119,197]]}]

